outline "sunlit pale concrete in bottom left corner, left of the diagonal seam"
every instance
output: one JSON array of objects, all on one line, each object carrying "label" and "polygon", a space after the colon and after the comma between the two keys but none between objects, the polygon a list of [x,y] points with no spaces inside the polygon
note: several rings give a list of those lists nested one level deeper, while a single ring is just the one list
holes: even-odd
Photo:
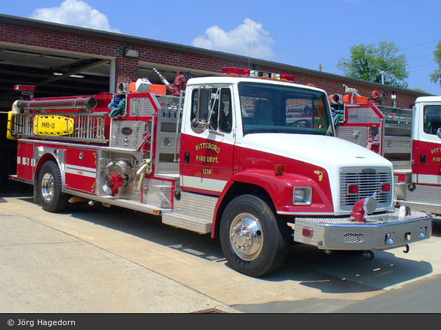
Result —
[{"label": "sunlit pale concrete in bottom left corner, left of the diagonal seam", "polygon": [[[1,313],[237,312],[136,261],[89,243],[87,238],[8,210],[2,207],[8,202],[2,201]],[[22,206],[32,208],[34,204],[28,200]],[[43,216],[57,217],[50,213]],[[115,233],[110,230],[106,236],[106,230],[89,231],[90,236],[94,234],[106,241]]]}]

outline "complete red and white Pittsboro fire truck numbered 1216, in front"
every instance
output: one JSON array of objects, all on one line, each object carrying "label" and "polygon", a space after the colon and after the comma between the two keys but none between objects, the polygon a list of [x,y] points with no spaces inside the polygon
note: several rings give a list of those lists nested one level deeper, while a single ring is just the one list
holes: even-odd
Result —
[{"label": "complete red and white Pittsboro fire truck numbered 1216, in front", "polygon": [[255,277],[294,242],[372,254],[430,238],[430,215],[394,208],[391,162],[335,137],[322,89],[224,73],[176,84],[158,73],[162,92],[141,79],[116,94],[15,101],[11,178],[49,212],[101,202],[211,234]]}]

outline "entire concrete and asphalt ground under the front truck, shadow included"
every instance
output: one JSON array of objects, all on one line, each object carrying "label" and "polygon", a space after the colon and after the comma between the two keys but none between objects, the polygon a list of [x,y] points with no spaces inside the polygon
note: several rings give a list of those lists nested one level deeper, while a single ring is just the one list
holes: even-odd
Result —
[{"label": "entire concrete and asphalt ground under the front truck, shadow included", "polygon": [[409,253],[295,245],[279,271],[250,278],[218,241],[159,217],[101,204],[52,214],[3,196],[0,313],[441,313],[437,221]]}]

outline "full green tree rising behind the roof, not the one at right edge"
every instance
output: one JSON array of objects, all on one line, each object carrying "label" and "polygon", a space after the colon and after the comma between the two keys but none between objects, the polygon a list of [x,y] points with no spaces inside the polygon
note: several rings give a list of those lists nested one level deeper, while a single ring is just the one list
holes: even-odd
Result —
[{"label": "full green tree rising behind the roof, not the one at right edge", "polygon": [[342,57],[337,63],[337,69],[343,71],[344,76],[407,88],[407,58],[404,54],[395,55],[398,52],[395,43],[381,41],[378,47],[360,43],[349,49],[349,58]]}]

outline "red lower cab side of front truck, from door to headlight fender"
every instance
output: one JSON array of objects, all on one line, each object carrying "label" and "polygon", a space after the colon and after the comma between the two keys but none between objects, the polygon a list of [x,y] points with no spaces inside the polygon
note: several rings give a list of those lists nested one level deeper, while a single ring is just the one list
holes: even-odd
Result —
[{"label": "red lower cab side of front truck, from door to headlight fender", "polygon": [[[184,145],[181,148],[181,175],[224,181],[224,191],[230,187],[230,181],[258,185],[269,193],[276,210],[281,213],[333,212],[330,182],[321,167],[240,145],[207,141],[194,136],[181,138]],[[182,162],[186,159],[186,152],[189,153],[188,164]],[[277,164],[285,166],[285,174],[274,173]],[[205,168],[209,173],[204,173]],[[293,205],[294,187],[313,187],[311,205]],[[183,185],[181,189],[221,196],[221,192],[210,190],[210,187],[196,189]]]}]

